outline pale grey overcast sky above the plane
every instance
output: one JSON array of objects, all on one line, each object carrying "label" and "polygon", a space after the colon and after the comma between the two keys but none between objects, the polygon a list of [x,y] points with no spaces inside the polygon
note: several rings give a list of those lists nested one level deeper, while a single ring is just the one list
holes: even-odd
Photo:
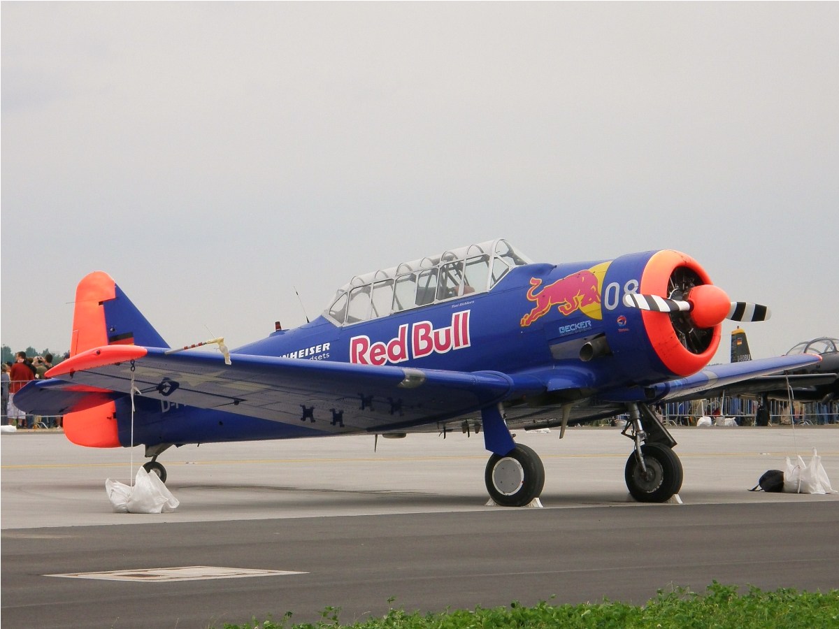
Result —
[{"label": "pale grey overcast sky above the plane", "polygon": [[839,3],[0,13],[13,351],[69,349],[94,270],[170,345],[235,347],[495,237],[549,263],[686,252],[773,310],[755,357],[839,336]]}]

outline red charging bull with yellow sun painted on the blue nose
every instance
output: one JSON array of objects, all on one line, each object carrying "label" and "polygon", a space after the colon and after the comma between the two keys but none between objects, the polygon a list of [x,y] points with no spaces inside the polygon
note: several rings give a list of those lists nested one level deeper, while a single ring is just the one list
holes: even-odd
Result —
[{"label": "red charging bull with yellow sun painted on the blue nose", "polygon": [[554,307],[566,317],[569,314],[575,313],[577,310],[581,310],[581,312],[587,314],[592,319],[600,319],[602,316],[600,310],[600,283],[602,282],[602,273],[605,273],[606,269],[602,269],[600,279],[594,273],[596,269],[586,269],[572,273],[565,278],[548,284],[541,290],[539,290],[539,286],[542,285],[542,280],[531,278],[527,299],[535,302],[535,305],[528,314],[522,317],[522,327],[532,324],[540,317],[544,317]]}]

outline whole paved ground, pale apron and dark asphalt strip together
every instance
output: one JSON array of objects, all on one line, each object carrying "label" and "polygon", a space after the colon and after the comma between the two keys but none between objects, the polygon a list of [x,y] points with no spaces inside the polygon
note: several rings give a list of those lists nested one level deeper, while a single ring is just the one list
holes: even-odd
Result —
[{"label": "whole paved ground, pale apron and dark asphalt strip together", "polygon": [[[544,508],[485,507],[480,438],[411,435],[187,446],[160,457],[174,513],[115,514],[107,477],[128,450],[4,434],[3,626],[204,627],[252,616],[341,621],[388,606],[644,602],[711,580],[839,588],[839,497],[746,491],[817,447],[839,486],[839,429],[675,429],[683,504],[628,500],[617,429],[519,434],[545,461]],[[142,462],[135,452],[133,469]],[[211,566],[279,573],[211,580],[47,576]],[[555,597],[551,599],[551,597]],[[393,603],[388,599],[393,598]]]}]

